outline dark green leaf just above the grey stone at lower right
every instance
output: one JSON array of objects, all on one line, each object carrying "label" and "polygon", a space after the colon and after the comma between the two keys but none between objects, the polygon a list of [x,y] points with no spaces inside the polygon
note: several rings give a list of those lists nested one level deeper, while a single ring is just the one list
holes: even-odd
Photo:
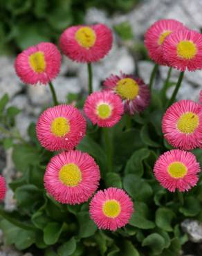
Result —
[{"label": "dark green leaf just above the grey stone at lower right", "polygon": [[186,197],[183,207],[179,209],[179,212],[181,212],[186,217],[196,216],[200,211],[201,203],[199,202],[199,199],[196,199],[194,196]]}]

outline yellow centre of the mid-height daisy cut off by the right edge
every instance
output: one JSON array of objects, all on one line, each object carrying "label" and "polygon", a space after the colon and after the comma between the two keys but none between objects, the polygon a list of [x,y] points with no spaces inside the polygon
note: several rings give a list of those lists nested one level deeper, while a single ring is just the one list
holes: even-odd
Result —
[{"label": "yellow centre of the mid-height daisy cut off by the right edge", "polygon": [[199,116],[193,112],[183,113],[177,121],[177,128],[183,134],[192,134],[199,127]]}]

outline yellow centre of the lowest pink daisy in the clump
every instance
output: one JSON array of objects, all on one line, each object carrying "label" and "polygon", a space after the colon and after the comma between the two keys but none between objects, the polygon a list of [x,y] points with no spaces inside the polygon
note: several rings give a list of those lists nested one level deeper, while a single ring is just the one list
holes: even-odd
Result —
[{"label": "yellow centre of the lowest pink daisy in the clump", "polygon": [[116,218],[120,214],[120,203],[116,200],[107,200],[102,205],[102,212],[109,218]]}]

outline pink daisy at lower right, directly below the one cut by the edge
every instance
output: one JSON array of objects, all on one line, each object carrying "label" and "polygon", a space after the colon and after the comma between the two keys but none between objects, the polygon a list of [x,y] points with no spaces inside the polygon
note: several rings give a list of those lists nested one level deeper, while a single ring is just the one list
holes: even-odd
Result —
[{"label": "pink daisy at lower right, directly below the one cut by the edge", "polygon": [[172,149],[161,155],[154,165],[154,175],[170,192],[190,190],[199,180],[200,165],[191,152]]}]

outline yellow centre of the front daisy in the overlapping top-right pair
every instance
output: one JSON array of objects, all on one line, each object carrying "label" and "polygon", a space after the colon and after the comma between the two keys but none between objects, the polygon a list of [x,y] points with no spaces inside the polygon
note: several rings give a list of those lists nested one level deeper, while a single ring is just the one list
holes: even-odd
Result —
[{"label": "yellow centre of the front daisy in the overlapping top-right pair", "polygon": [[196,45],[192,41],[184,40],[177,44],[177,55],[185,60],[192,59],[196,52]]}]

